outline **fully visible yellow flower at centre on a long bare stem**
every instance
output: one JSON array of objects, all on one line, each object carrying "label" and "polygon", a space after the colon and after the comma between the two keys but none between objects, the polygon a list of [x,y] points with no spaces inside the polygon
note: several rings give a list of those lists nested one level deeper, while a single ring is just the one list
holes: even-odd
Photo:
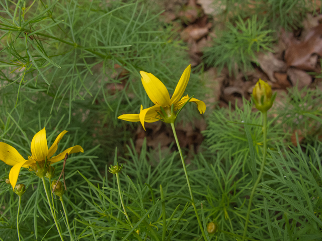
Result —
[{"label": "fully visible yellow flower at centre on a long bare stem", "polygon": [[[174,105],[174,111],[176,111],[189,100],[188,95],[182,98],[181,96],[183,95],[189,81],[190,68],[191,67],[189,65],[183,72],[171,98],[166,86],[158,78],[151,73],[140,71],[143,87],[154,105],[146,109],[143,109],[143,106],[141,105],[141,111],[139,114],[122,114],[118,118],[128,122],[141,122],[144,128],[144,122],[151,123],[159,121],[160,115],[158,113],[162,113],[161,107],[168,115],[166,117],[171,117],[172,104]],[[195,102],[201,114],[205,112],[206,105],[203,101],[191,98],[189,102]]]}]

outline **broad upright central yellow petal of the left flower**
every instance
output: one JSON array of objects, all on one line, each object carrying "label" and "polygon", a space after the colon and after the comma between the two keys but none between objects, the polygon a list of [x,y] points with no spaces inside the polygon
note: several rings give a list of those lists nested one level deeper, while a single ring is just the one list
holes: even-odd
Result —
[{"label": "broad upright central yellow petal of the left flower", "polygon": [[31,155],[38,162],[44,161],[46,156],[48,155],[48,146],[47,146],[45,128],[39,131],[38,133],[36,133],[36,135],[32,139]]}]

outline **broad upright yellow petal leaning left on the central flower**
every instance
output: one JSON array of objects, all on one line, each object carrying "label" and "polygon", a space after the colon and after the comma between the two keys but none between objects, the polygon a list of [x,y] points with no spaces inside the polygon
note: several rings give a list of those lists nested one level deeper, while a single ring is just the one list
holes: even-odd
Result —
[{"label": "broad upright yellow petal leaning left on the central flower", "polygon": [[169,105],[170,95],[166,86],[151,73],[140,71],[140,74],[143,87],[150,100],[156,105]]}]

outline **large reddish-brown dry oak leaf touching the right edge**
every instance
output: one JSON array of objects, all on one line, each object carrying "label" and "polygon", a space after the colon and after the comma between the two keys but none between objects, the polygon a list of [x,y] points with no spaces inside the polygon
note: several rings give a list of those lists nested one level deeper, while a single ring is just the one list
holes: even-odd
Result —
[{"label": "large reddish-brown dry oak leaf touching the right edge", "polygon": [[303,41],[290,37],[289,46],[285,51],[287,66],[306,71],[316,71],[317,54],[322,56],[322,24],[312,28]]}]

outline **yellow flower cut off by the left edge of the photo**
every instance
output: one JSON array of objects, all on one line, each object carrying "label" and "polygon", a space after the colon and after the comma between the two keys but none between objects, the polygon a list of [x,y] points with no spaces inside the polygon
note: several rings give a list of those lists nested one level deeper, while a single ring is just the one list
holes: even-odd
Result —
[{"label": "yellow flower cut off by the left edge of the photo", "polygon": [[71,153],[84,152],[81,146],[73,146],[66,149],[59,155],[52,157],[52,155],[54,155],[54,153],[57,151],[58,143],[66,133],[67,131],[61,132],[48,149],[46,130],[45,128],[42,129],[31,141],[31,157],[28,157],[28,160],[25,160],[14,147],[0,142],[0,160],[10,166],[13,166],[9,173],[9,180],[13,188],[16,186],[19,172],[22,167],[32,168],[35,170],[37,167],[36,162],[44,163],[46,157],[48,163],[54,163],[63,160],[66,153],[69,155]]}]

